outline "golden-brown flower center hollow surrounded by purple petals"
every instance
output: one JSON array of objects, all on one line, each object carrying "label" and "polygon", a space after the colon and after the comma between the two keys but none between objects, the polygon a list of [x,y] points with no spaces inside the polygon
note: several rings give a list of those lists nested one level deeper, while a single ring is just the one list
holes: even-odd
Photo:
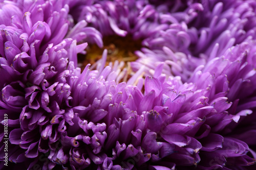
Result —
[{"label": "golden-brown flower center hollow surrounded by purple petals", "polygon": [[117,35],[103,37],[102,48],[96,44],[89,44],[86,48],[87,54],[78,55],[78,63],[81,64],[81,68],[86,67],[87,64],[93,65],[97,60],[101,59],[103,50],[108,50],[108,57],[106,59],[106,65],[116,60],[132,62],[137,60],[137,56],[134,54],[135,51],[140,50],[142,47],[141,40],[134,40],[131,35],[120,37]]}]

